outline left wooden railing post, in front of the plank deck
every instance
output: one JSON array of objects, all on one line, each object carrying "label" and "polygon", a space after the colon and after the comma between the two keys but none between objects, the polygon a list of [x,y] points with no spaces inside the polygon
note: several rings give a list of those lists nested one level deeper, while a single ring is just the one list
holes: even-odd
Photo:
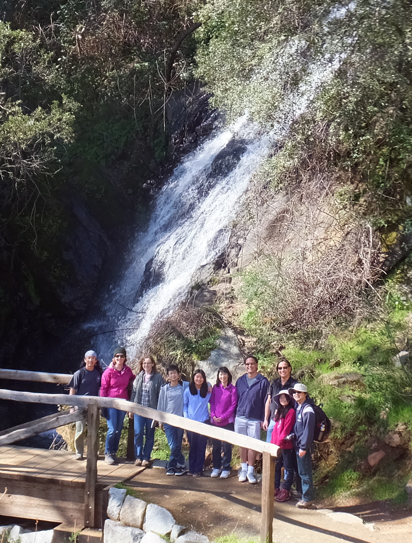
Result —
[{"label": "left wooden railing post, in front of the plank deck", "polygon": [[95,491],[97,483],[97,455],[99,452],[99,407],[88,405],[88,456],[84,484],[84,526],[95,527]]}]

